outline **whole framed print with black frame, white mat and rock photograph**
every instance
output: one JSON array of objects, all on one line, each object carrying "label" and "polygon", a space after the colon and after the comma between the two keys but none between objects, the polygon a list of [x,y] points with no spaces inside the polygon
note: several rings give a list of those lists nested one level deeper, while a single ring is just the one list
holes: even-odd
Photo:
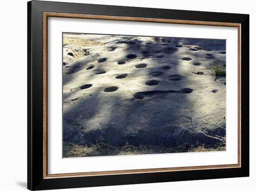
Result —
[{"label": "whole framed print with black frame, white mat and rock photograph", "polygon": [[28,189],[249,176],[249,15],[28,2]]}]

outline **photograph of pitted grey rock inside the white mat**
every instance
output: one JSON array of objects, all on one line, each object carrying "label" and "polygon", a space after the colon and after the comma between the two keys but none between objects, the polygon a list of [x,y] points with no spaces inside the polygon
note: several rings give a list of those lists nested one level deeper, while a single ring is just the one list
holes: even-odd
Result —
[{"label": "photograph of pitted grey rock inside the white mat", "polygon": [[226,151],[226,39],[62,33],[63,158]]}]

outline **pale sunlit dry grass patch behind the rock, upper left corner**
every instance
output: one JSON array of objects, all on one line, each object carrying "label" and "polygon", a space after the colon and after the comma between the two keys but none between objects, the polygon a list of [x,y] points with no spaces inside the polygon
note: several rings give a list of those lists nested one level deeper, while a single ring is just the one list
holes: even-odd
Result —
[{"label": "pale sunlit dry grass patch behind the rock, upper left corner", "polygon": [[74,38],[74,37],[64,37],[63,38],[63,45],[78,45],[78,46],[102,46],[105,45],[105,43],[96,42],[94,40],[87,40],[83,38]]}]

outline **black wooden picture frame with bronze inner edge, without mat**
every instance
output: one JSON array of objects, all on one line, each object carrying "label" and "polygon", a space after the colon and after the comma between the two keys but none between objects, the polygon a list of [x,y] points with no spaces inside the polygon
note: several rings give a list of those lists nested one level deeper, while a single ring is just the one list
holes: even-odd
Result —
[{"label": "black wooden picture frame with bronze inner edge, without mat", "polygon": [[[27,188],[29,190],[249,176],[249,15],[34,0],[27,5]],[[47,19],[49,17],[237,27],[238,163],[48,174],[47,84],[51,83],[47,81]]]}]

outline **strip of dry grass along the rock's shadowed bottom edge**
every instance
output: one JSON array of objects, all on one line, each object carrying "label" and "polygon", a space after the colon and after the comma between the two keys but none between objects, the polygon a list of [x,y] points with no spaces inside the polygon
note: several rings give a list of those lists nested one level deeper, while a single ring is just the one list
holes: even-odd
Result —
[{"label": "strip of dry grass along the rock's shadowed bottom edge", "polygon": [[85,156],[115,156],[115,155],[134,155],[134,154],[156,154],[156,153],[186,153],[186,152],[209,152],[224,151],[225,146],[215,146],[205,148],[204,145],[193,148],[187,145],[179,147],[162,147],[162,146],[133,146],[128,142],[124,146],[111,146],[105,143],[93,145],[76,145],[64,143],[63,157],[85,157]]}]

